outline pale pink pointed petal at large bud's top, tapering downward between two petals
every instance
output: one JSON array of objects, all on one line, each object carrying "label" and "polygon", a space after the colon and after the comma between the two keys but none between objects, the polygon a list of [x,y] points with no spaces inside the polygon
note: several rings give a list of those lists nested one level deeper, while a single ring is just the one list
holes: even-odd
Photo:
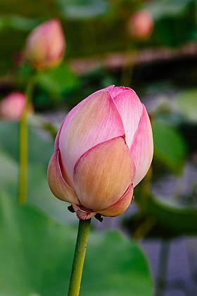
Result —
[{"label": "pale pink pointed petal at large bud's top, tapering downward between two petals", "polygon": [[132,89],[122,91],[115,96],[114,101],[122,117],[126,142],[130,148],[141,118],[143,108],[141,101]]}]

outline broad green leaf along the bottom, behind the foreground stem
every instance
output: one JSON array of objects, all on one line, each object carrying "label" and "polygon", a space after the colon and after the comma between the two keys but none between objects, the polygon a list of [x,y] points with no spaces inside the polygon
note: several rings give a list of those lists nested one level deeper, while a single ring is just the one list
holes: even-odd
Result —
[{"label": "broad green leaf along the bottom, behind the foreground stem", "polygon": [[[105,222],[104,222],[105,223]],[[77,229],[0,198],[0,295],[66,295]],[[115,231],[90,233],[81,295],[153,295],[144,253]]]}]

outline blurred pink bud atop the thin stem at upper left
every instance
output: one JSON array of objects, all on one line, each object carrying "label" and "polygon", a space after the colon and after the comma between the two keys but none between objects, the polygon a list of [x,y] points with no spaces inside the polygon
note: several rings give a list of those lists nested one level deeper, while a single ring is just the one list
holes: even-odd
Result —
[{"label": "blurred pink bud atop the thin stem at upper left", "polygon": [[61,23],[49,20],[36,27],[27,37],[25,58],[33,67],[44,69],[61,62],[65,50],[65,37]]}]

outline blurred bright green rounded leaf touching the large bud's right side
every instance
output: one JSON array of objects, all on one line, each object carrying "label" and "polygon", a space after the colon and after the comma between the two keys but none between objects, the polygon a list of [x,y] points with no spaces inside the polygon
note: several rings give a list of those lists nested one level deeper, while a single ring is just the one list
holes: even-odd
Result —
[{"label": "blurred bright green rounded leaf touching the large bud's right side", "polygon": [[186,157],[184,139],[173,126],[154,122],[154,157],[173,173],[182,172]]}]

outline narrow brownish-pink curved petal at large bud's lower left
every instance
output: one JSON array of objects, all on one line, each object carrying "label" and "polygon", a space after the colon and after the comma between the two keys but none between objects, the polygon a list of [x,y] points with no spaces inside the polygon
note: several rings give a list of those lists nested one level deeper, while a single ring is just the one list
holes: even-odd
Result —
[{"label": "narrow brownish-pink curved petal at large bud's lower left", "polygon": [[70,203],[80,203],[75,191],[67,184],[65,179],[63,179],[59,163],[59,150],[56,150],[51,157],[47,177],[51,192],[56,198]]}]

